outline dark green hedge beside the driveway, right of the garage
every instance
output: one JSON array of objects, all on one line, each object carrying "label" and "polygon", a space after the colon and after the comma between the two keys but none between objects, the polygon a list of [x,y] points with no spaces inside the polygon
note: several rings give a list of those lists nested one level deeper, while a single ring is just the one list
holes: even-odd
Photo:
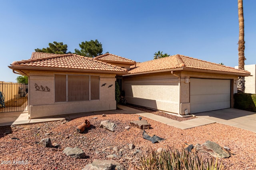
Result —
[{"label": "dark green hedge beside the driveway, right of the garage", "polygon": [[236,93],[234,94],[234,108],[256,112],[256,94]]}]

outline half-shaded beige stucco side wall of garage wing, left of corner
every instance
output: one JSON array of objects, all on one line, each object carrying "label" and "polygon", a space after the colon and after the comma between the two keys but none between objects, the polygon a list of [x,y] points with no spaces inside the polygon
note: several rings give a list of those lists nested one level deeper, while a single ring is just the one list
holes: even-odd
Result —
[{"label": "half-shaded beige stucco side wall of garage wing, left of corner", "polygon": [[170,73],[125,77],[125,98],[128,103],[178,113],[178,78]]}]

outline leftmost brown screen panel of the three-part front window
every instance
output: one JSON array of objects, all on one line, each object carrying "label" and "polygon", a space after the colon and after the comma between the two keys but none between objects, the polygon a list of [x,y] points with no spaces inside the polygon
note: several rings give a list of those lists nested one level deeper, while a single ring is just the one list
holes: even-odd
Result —
[{"label": "leftmost brown screen panel of the three-part front window", "polygon": [[55,102],[66,102],[66,75],[55,74]]}]

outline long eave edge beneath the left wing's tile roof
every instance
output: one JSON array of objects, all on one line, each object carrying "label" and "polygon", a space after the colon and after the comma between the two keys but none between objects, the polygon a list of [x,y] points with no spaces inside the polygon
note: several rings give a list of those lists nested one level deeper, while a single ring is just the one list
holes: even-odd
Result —
[{"label": "long eave edge beneath the left wing's tile roof", "polygon": [[85,69],[70,69],[70,68],[42,68],[30,66],[8,66],[12,70],[43,70],[43,71],[66,71],[66,72],[95,72],[95,73],[112,73],[112,74],[128,74],[126,71],[111,71],[111,70],[85,70]]}]

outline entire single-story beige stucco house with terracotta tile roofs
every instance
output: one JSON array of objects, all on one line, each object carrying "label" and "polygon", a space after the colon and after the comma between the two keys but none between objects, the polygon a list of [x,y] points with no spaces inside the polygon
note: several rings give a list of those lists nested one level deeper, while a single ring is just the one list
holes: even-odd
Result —
[{"label": "entire single-story beige stucco house with terracotta tile roofs", "polygon": [[116,109],[116,79],[130,104],[180,115],[229,108],[238,76],[250,75],[182,55],[136,63],[112,54],[34,52],[9,67],[29,77],[30,118]]}]

